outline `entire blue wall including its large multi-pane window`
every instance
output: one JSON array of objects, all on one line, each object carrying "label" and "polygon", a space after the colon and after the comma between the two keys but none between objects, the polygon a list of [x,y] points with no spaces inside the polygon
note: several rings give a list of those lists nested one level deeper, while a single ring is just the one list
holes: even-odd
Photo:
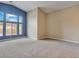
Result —
[{"label": "entire blue wall including its large multi-pane window", "polygon": [[26,35],[26,12],[0,3],[0,39]]}]

